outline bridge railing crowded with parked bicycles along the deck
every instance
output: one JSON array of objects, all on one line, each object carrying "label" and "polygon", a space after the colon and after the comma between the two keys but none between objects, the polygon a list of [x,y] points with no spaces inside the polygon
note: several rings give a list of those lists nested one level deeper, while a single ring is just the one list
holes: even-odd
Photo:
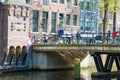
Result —
[{"label": "bridge railing crowded with parked bicycles along the deck", "polygon": [[64,36],[53,35],[48,39],[39,40],[37,44],[119,44],[120,35],[113,36],[112,33],[81,33],[80,36],[76,34],[65,34]]}]

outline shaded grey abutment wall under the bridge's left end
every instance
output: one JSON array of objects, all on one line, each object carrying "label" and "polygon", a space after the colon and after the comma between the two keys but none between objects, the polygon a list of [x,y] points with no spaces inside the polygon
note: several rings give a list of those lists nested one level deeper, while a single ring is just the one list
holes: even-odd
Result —
[{"label": "shaded grey abutment wall under the bridge's left end", "polygon": [[62,69],[71,68],[73,64],[68,63],[55,52],[33,52],[31,67],[33,69]]}]

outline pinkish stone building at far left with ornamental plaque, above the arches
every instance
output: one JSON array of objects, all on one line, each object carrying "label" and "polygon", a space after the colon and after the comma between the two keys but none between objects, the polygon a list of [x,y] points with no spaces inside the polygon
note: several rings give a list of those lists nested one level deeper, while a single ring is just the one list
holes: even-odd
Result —
[{"label": "pinkish stone building at far left with ornamental plaque, above the arches", "polygon": [[0,51],[19,51],[27,47],[29,4],[26,0],[4,0],[0,3]]}]

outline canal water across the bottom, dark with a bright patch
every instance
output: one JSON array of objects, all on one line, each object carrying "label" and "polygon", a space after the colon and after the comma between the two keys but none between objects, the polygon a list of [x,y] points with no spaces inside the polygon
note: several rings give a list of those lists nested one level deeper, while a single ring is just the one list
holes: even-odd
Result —
[{"label": "canal water across the bottom, dark with a bright patch", "polygon": [[[95,69],[81,70],[80,80],[120,80],[120,77],[91,78],[91,73]],[[75,80],[73,70],[57,71],[21,71],[1,73],[0,80]]]}]

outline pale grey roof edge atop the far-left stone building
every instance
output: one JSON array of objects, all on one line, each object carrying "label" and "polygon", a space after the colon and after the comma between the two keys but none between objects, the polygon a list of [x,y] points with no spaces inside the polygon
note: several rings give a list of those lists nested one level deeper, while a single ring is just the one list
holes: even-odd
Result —
[{"label": "pale grey roof edge atop the far-left stone building", "polygon": [[2,3],[30,7],[30,5],[27,4],[25,0],[3,0]]}]

